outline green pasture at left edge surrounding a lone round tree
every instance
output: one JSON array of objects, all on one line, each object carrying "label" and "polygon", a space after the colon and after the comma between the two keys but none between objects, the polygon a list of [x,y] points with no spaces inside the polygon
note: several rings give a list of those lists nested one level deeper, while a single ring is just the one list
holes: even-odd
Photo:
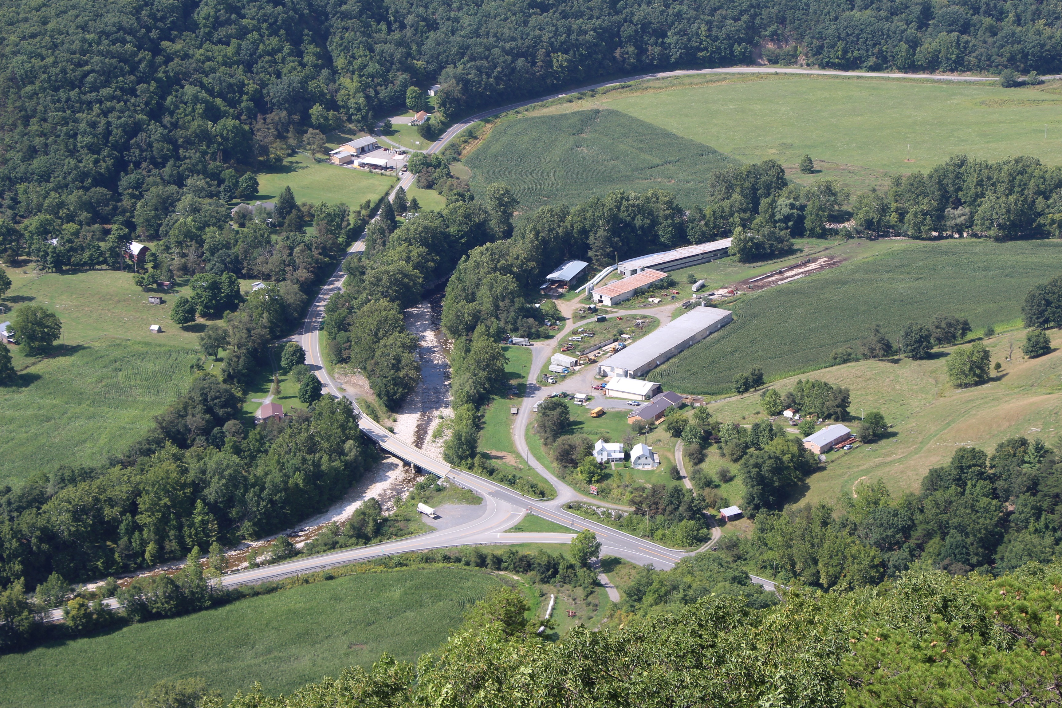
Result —
[{"label": "green pasture at left edge surrounding a lone round tree", "polygon": [[[164,304],[150,305],[129,273],[6,273],[5,301],[53,310],[63,339],[42,358],[11,349],[20,374],[0,387],[0,484],[124,452],[187,386],[202,323],[189,331],[171,324],[177,293],[158,293]],[[162,333],[153,334],[153,324]]]}]

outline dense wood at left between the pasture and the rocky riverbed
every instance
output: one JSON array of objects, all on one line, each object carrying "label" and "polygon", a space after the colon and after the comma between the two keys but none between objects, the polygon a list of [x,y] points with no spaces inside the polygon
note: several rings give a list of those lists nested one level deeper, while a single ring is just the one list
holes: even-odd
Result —
[{"label": "dense wood at left between the pasture and the rocky riverbed", "polygon": [[201,374],[121,457],[0,488],[0,583],[84,581],[257,538],[331,503],[377,459],[348,401],[251,431],[241,403]]}]

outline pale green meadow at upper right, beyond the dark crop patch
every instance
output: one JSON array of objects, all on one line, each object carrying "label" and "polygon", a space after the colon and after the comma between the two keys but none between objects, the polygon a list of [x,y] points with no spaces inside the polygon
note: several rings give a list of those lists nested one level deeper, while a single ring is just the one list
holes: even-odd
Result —
[{"label": "pale green meadow at upper right, beyond the dark crop patch", "polygon": [[[960,153],[1062,163],[1058,82],[1008,89],[927,80],[714,74],[639,82],[531,116],[593,108],[624,113],[743,162],[776,159],[798,182],[836,177],[859,189],[930,170]],[[796,165],[805,154],[821,172],[800,174]],[[628,188],[637,189],[633,183]]]}]

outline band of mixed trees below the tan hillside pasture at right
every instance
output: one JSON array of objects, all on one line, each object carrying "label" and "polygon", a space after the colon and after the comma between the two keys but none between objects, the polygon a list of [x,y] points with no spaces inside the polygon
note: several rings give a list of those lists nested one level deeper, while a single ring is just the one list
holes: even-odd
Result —
[{"label": "band of mixed trees below the tan hillside pasture at right", "polygon": [[915,566],[999,575],[1058,553],[1060,474],[1057,451],[1040,439],[1009,438],[991,454],[962,448],[928,471],[918,494],[893,497],[878,481],[840,508],[765,510],[751,537],[720,550],[782,582],[823,589],[875,585]]}]

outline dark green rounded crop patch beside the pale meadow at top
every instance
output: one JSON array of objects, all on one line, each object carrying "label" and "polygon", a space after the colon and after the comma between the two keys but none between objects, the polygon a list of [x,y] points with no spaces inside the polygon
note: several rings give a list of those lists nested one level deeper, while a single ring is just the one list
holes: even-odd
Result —
[{"label": "dark green rounded crop patch beside the pale meadow at top", "polygon": [[732,160],[614,110],[519,118],[495,127],[464,163],[477,190],[503,182],[521,209],[576,204],[615,189],[666,189],[701,201],[707,174]]}]

